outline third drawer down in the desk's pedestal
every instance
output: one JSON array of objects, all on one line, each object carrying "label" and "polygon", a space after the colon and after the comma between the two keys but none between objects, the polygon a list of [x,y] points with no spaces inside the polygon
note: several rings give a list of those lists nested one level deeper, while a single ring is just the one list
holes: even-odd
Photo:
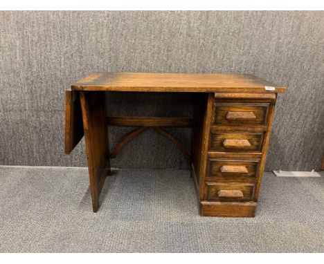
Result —
[{"label": "third drawer down in the desk's pedestal", "polygon": [[226,158],[207,161],[208,180],[255,181],[260,160],[231,160]]}]

